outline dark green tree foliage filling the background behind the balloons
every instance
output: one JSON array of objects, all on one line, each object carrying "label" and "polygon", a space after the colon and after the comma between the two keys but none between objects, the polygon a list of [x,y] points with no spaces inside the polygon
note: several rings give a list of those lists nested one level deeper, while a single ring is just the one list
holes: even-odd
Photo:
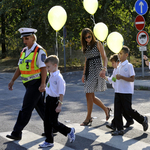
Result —
[{"label": "dark green tree foliage filling the background behind the balloons", "polygon": [[[150,1],[147,0],[147,3],[150,6]],[[90,14],[83,8],[82,0],[2,0],[0,15],[5,16],[5,35],[0,37],[0,41],[5,39],[7,55],[19,55],[23,47],[21,40],[17,40],[20,37],[17,31],[20,27],[36,28],[38,43],[49,50],[49,54],[54,52],[56,33],[48,22],[47,14],[55,5],[61,5],[67,12],[66,40],[76,43],[76,49],[81,48],[82,29],[85,27],[93,29],[94,26]],[[141,53],[136,42],[138,31],[134,26],[137,16],[134,5],[133,0],[99,0],[99,7],[94,17],[96,23],[104,22],[108,26],[109,33],[120,32],[124,37],[124,44],[130,48],[130,55],[140,58]],[[144,17],[146,20],[144,30],[150,33],[150,11]],[[1,24],[0,28],[2,28]],[[59,36],[63,36],[62,30],[59,31]],[[61,43],[61,38],[58,40]],[[149,47],[148,44],[148,49]],[[105,48],[108,56],[112,54],[107,46]]]}]

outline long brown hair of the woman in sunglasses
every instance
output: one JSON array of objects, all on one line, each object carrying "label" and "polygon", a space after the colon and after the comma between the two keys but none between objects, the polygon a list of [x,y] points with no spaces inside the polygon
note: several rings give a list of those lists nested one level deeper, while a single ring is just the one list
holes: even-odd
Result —
[{"label": "long brown hair of the woman in sunglasses", "polygon": [[83,53],[85,53],[86,47],[87,47],[87,42],[85,40],[85,36],[87,35],[87,33],[89,33],[92,36],[92,40],[90,42],[91,49],[94,47],[94,45],[96,43],[96,39],[95,39],[95,36],[94,36],[92,30],[89,28],[84,28],[81,33],[81,45],[82,45]]}]

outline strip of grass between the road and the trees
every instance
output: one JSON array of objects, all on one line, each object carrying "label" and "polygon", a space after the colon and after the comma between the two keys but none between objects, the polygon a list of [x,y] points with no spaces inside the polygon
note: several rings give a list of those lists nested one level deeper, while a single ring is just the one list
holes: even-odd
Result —
[{"label": "strip of grass between the road and the trees", "polygon": [[[0,72],[14,72],[17,68],[19,58],[6,57],[5,59],[0,59]],[[130,57],[130,62],[134,67],[141,67],[141,59],[137,59],[134,56]],[[66,72],[83,70],[84,67],[84,56],[81,53],[74,54],[74,57],[66,59]],[[112,68],[111,62],[108,61],[108,68]],[[63,57],[60,59],[61,72],[64,72],[64,62]]]}]

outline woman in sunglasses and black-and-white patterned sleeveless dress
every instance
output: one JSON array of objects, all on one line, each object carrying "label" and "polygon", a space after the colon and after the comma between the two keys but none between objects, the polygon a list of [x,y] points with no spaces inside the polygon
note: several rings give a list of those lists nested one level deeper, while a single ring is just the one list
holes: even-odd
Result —
[{"label": "woman in sunglasses and black-and-white patterned sleeveless dress", "polygon": [[[102,101],[95,96],[94,92],[105,91],[107,89],[106,82],[103,79],[107,70],[107,57],[105,50],[100,42],[98,42],[93,32],[89,28],[84,28],[81,33],[82,51],[85,55],[85,65],[82,76],[84,83],[84,91],[87,99],[87,116],[81,126],[87,126],[92,123],[93,103],[101,107],[105,114],[106,120],[110,117],[111,109],[106,107]],[[103,60],[103,66],[102,61]]]}]

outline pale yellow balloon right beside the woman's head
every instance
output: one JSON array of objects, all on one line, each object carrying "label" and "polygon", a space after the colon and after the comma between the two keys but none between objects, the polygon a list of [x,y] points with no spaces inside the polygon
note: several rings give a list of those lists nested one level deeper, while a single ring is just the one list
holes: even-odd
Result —
[{"label": "pale yellow balloon right beside the woman's head", "polygon": [[103,22],[99,22],[95,24],[93,32],[95,37],[103,42],[108,35],[108,27]]}]

